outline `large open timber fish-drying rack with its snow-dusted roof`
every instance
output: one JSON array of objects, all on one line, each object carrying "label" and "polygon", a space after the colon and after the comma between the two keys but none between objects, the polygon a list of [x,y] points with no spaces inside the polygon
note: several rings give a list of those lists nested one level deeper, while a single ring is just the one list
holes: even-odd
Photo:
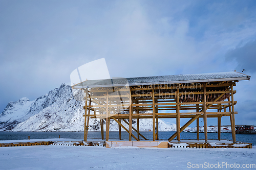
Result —
[{"label": "large open timber fish-drying rack with its snow-dusted roof", "polygon": [[[230,117],[232,141],[236,142],[233,86],[240,80],[250,80],[250,76],[239,72],[220,72],[212,74],[174,75],[140,77],[127,79],[87,80],[72,86],[84,90],[86,110],[84,116],[84,141],[87,141],[90,118],[100,118],[101,137],[104,139],[103,119],[105,119],[105,140],[109,140],[110,119],[119,125],[132,138],[146,139],[139,130],[139,120],[150,118],[153,122],[153,141],[158,140],[158,119],[175,118],[177,131],[168,138],[175,137],[180,142],[180,132],[195,120],[197,140],[199,140],[199,118],[203,118],[204,136],[207,143],[207,117],[218,121],[218,140],[221,140],[221,118]],[[146,111],[146,112],[145,112]],[[190,118],[180,128],[180,118]],[[129,119],[129,122],[125,119]],[[132,126],[137,119],[137,127]],[[121,121],[122,120],[122,121]],[[129,125],[129,129],[123,126]],[[132,131],[135,131],[135,136]]]}]

